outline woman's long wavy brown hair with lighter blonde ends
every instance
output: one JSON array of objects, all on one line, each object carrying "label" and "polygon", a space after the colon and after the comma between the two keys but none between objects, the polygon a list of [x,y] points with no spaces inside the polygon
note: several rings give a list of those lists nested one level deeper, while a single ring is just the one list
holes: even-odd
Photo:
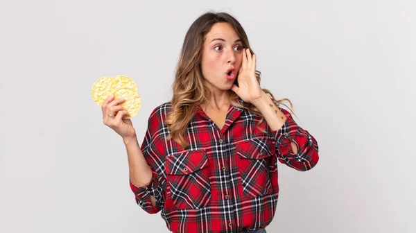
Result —
[{"label": "woman's long wavy brown hair with lighter blonde ends", "polygon": [[[205,42],[206,35],[216,23],[230,24],[242,40],[243,47],[249,48],[251,53],[254,54],[241,24],[226,12],[206,12],[191,24],[187,35],[184,38],[182,51],[175,70],[175,80],[172,86],[173,97],[171,99],[171,112],[166,119],[166,125],[168,125],[169,130],[171,130],[171,135],[169,135],[167,139],[174,139],[182,146],[182,148],[188,146],[183,135],[198,109],[196,103],[205,103],[209,99],[209,90],[202,83],[203,77],[200,64],[202,60],[202,46]],[[259,83],[260,76],[261,72],[256,71],[256,77]],[[254,114],[261,115],[254,105],[250,103],[241,105],[236,93],[232,92],[232,90],[229,90],[229,92],[232,105],[248,109],[254,112]],[[270,95],[270,98],[272,98],[272,101],[276,106],[279,106],[280,104],[285,105],[282,102],[288,101],[291,104],[290,110],[293,112],[293,105],[288,98],[277,101],[275,96],[273,96],[268,89],[263,89],[263,92]],[[285,106],[288,107],[287,105]],[[262,123],[263,120],[263,116],[261,116],[259,124]]]}]

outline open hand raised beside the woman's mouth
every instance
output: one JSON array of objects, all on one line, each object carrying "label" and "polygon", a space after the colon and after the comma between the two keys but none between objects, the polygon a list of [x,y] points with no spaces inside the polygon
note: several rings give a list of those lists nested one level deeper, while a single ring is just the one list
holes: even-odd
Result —
[{"label": "open hand raised beside the woman's mouth", "polygon": [[261,98],[262,90],[256,78],[256,55],[251,55],[250,49],[243,49],[243,62],[237,76],[239,87],[231,87],[240,98],[247,103],[254,103]]}]

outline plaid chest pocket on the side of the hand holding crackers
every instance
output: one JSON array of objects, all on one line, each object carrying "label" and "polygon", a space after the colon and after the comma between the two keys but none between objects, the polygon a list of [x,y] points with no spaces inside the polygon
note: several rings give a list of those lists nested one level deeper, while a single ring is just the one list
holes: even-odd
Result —
[{"label": "plaid chest pocket on the side of the hand holding crackers", "polygon": [[177,209],[199,209],[211,201],[209,163],[205,150],[190,150],[166,157],[166,180]]}]

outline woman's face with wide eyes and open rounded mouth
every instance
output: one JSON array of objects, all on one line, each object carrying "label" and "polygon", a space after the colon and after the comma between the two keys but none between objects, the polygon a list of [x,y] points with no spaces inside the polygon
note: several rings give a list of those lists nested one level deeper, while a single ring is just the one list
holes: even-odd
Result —
[{"label": "woman's face with wide eyes and open rounded mouth", "polygon": [[[202,76],[211,91],[231,89],[242,62],[243,43],[234,28],[216,23],[202,46]],[[229,71],[232,71],[229,73]]]}]

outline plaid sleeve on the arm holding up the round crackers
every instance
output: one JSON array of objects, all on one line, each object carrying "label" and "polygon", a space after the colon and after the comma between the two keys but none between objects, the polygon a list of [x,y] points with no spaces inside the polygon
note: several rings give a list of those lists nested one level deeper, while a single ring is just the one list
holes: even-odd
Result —
[{"label": "plaid sleeve on the arm holding up the round crackers", "polygon": [[[164,207],[164,190],[166,175],[164,171],[164,144],[157,136],[159,130],[158,117],[154,110],[148,120],[148,129],[141,144],[141,152],[152,170],[152,180],[143,187],[137,187],[130,182],[130,189],[135,193],[137,205],[149,214],[156,214]],[[156,207],[150,202],[150,196],[156,200]]]}]

